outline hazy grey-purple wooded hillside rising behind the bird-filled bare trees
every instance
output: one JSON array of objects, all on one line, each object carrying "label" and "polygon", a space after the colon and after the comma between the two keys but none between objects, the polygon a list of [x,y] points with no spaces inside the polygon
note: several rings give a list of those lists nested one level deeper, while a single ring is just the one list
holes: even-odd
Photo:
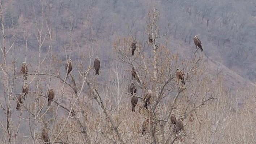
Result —
[{"label": "hazy grey-purple wooded hillside rising behind the bird-filled bare trees", "polygon": [[[256,4],[253,0],[42,0],[42,3],[43,9],[39,1],[34,0],[3,3],[7,38],[11,39],[12,31],[16,32],[16,47],[24,51],[27,31],[31,59],[38,51],[35,21],[47,19],[52,30],[52,47],[58,58],[65,59],[64,45],[69,47],[67,44],[72,29],[72,59],[94,48],[94,53],[107,62],[118,36],[133,35],[141,42],[147,40],[144,34],[147,12],[155,6],[161,13],[159,25],[168,26],[170,23],[167,35],[170,48],[175,49],[177,44],[186,43],[189,48],[176,49],[193,52],[193,35],[199,35],[206,57],[220,62],[243,78],[255,81]],[[165,27],[162,27],[164,30]],[[47,31],[43,32],[47,34]],[[172,42],[174,39],[177,40],[175,43]],[[49,43],[47,38],[46,43]],[[20,62],[24,61],[24,54],[20,53]]]}]

